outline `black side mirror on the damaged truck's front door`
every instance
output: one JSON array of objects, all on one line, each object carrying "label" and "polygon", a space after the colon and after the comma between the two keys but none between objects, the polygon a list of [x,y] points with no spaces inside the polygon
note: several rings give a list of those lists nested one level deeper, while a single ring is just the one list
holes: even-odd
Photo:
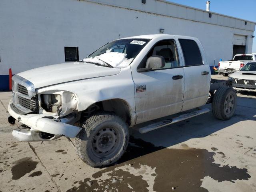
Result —
[{"label": "black side mirror on the damaged truck's front door", "polygon": [[137,69],[137,72],[147,72],[152,69],[163,68],[165,66],[164,57],[162,56],[151,56],[146,62],[146,68]]}]

